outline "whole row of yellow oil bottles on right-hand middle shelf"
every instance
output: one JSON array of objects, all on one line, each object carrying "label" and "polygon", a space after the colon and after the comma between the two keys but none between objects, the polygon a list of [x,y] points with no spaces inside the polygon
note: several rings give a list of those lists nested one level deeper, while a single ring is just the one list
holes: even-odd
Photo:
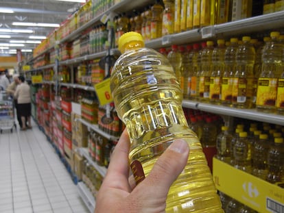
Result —
[{"label": "whole row of yellow oil bottles on right-hand middle shelf", "polygon": [[284,36],[272,32],[263,41],[212,40],[185,47],[160,49],[174,67],[185,99],[257,108],[284,110]]}]

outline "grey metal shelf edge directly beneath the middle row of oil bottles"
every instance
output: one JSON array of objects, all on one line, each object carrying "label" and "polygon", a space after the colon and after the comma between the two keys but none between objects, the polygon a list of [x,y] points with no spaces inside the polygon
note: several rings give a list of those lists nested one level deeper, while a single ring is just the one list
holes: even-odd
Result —
[{"label": "grey metal shelf edge directly beneath the middle row of oil bottles", "polygon": [[193,110],[202,110],[205,112],[211,112],[215,114],[234,116],[239,118],[247,118],[253,121],[261,121],[265,123],[273,123],[276,125],[283,125],[284,116],[280,114],[265,113],[257,111],[256,109],[237,109],[230,108],[222,105],[213,105],[209,103],[199,103],[196,101],[184,100],[182,105],[185,108],[191,108]]}]

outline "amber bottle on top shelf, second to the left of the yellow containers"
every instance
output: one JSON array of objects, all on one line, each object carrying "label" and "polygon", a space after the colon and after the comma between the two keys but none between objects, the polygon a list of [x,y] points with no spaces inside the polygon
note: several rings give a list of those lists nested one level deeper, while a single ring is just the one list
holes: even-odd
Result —
[{"label": "amber bottle on top shelf, second to the left of the yellow containers", "polygon": [[163,22],[163,6],[159,0],[151,8],[151,39],[162,37],[162,22]]}]

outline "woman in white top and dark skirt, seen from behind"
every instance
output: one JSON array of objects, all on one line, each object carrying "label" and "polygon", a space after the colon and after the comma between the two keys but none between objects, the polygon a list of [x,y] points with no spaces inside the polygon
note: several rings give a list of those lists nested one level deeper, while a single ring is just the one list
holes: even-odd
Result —
[{"label": "woman in white top and dark skirt, seen from behind", "polygon": [[19,76],[19,85],[16,87],[14,97],[18,101],[19,114],[21,115],[21,130],[31,129],[31,94],[29,85],[25,83],[25,77],[22,75]]}]

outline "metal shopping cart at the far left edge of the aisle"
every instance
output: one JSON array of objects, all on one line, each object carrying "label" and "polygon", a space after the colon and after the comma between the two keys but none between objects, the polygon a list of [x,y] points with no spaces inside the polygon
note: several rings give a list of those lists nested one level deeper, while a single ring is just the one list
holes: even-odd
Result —
[{"label": "metal shopping cart at the far left edge of the aisle", "polygon": [[13,99],[5,91],[0,91],[0,133],[6,129],[13,132],[13,127],[16,129]]}]

